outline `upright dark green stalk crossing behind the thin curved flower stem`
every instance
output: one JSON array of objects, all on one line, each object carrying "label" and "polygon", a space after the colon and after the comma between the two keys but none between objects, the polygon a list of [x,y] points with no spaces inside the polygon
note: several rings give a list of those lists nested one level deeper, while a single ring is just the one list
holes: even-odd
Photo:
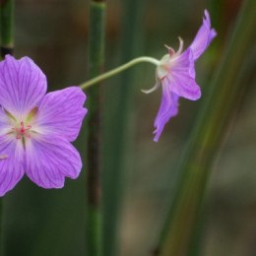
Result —
[{"label": "upright dark green stalk crossing behind the thin curved flower stem", "polygon": [[[104,0],[92,0],[90,3],[90,41],[89,41],[89,76],[96,77],[103,69]],[[87,254],[101,255],[101,198],[100,198],[100,106],[99,87],[88,91],[88,147],[87,147]]]}]

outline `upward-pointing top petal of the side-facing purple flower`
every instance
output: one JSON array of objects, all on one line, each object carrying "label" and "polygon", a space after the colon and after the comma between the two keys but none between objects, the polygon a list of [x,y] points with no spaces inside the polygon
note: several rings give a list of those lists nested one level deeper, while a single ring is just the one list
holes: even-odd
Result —
[{"label": "upward-pointing top petal of the side-facing purple flower", "polygon": [[205,18],[203,19],[203,25],[197,32],[193,42],[189,46],[193,51],[194,60],[197,60],[201,54],[209,46],[213,38],[217,35],[214,29],[211,29],[211,20],[207,10],[205,10]]}]

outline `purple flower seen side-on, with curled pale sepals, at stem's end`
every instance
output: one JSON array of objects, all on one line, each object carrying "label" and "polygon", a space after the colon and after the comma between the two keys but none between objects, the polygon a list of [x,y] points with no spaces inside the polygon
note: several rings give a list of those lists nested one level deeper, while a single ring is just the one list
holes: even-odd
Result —
[{"label": "purple flower seen side-on, with curled pale sepals, at stem's end", "polygon": [[160,59],[157,68],[157,83],[152,90],[144,91],[152,93],[162,86],[162,97],[160,110],[155,120],[155,138],[158,141],[165,123],[178,112],[179,97],[196,100],[201,96],[200,87],[195,81],[196,73],[194,63],[209,46],[216,36],[214,29],[211,29],[211,21],[207,11],[203,25],[199,29],[190,46],[182,52],[183,41],[179,38],[179,49],[175,52],[171,47],[168,54]]}]

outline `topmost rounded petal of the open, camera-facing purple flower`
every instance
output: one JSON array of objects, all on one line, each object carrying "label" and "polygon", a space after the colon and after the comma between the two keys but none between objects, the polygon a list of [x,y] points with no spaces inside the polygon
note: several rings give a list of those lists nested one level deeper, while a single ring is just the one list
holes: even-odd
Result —
[{"label": "topmost rounded petal of the open, camera-facing purple flower", "polygon": [[0,62],[0,104],[15,116],[26,115],[46,92],[46,78],[29,57],[10,55]]}]

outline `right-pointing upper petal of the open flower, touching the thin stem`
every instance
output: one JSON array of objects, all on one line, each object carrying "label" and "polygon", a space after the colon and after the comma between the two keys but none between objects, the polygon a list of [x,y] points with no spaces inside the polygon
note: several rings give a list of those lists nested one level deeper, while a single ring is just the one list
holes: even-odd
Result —
[{"label": "right-pointing upper petal of the open flower, touching the thin stem", "polygon": [[36,113],[35,130],[39,133],[64,136],[74,141],[87,109],[86,95],[78,87],[49,93],[41,100]]}]

